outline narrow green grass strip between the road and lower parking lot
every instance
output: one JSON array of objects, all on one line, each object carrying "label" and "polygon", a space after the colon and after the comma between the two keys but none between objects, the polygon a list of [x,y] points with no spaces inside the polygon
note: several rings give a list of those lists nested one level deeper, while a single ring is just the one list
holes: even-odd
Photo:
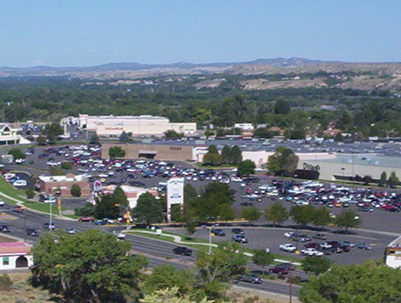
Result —
[{"label": "narrow green grass strip between the road and lower parking lot", "polygon": [[[203,240],[203,239],[199,239],[199,238],[194,238],[194,237],[190,237],[190,236],[185,236],[185,235],[180,235],[180,234],[174,234],[174,233],[169,233],[169,232],[163,232],[162,235],[158,235],[156,233],[154,234],[149,234],[149,233],[144,233],[144,231],[149,232],[149,230],[146,229],[138,229],[135,231],[130,231],[128,233],[133,234],[133,235],[139,235],[142,237],[146,237],[146,238],[151,238],[151,239],[155,239],[155,240],[162,240],[162,241],[167,241],[167,242],[172,242],[174,243],[174,239],[172,237],[169,237],[168,235],[172,235],[172,236],[179,236],[181,237],[181,241],[182,242],[188,242],[188,244],[182,244],[188,247],[192,247],[192,248],[196,248],[200,251],[209,251],[209,246],[208,245],[199,245],[196,243],[205,243],[208,244],[209,241]],[[218,244],[218,242],[212,242],[212,244]],[[177,243],[177,245],[179,245],[179,243]],[[212,251],[215,250],[216,247],[212,246]],[[254,250],[251,248],[247,248],[247,247],[240,247],[239,249],[242,253],[247,252],[247,253],[253,253]],[[285,256],[285,255],[279,255],[279,254],[274,254],[274,258],[275,259],[281,259],[281,260],[285,260],[288,262],[302,262],[302,260],[297,259],[297,258],[293,258],[290,256]],[[247,256],[247,259],[251,259],[251,257]],[[273,264],[278,264],[280,262],[274,262]]]}]

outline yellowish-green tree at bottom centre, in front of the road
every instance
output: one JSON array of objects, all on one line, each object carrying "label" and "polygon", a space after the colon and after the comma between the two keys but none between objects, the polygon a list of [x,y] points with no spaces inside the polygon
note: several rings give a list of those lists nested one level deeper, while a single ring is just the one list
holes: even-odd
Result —
[{"label": "yellowish-green tree at bottom centre, in front of the road", "polygon": [[223,283],[245,272],[247,261],[242,253],[237,253],[238,250],[238,243],[222,242],[211,254],[198,251],[195,263],[198,287],[205,291],[208,298],[220,298],[228,288],[228,285]]}]

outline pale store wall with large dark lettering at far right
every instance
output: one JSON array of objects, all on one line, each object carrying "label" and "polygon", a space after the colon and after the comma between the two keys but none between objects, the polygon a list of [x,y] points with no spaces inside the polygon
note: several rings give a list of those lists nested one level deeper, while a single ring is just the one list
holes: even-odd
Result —
[{"label": "pale store wall with large dark lettering at far right", "polygon": [[303,163],[307,163],[313,166],[319,165],[320,176],[319,179],[323,180],[335,180],[335,175],[351,177],[359,175],[361,177],[371,176],[373,179],[380,179],[381,173],[386,172],[387,176],[390,176],[391,172],[396,172],[397,176],[401,176],[400,168],[391,168],[384,166],[372,166],[372,165],[356,165],[352,163],[335,163],[335,162],[325,162],[320,160],[310,160],[299,161],[298,168],[303,168]]}]

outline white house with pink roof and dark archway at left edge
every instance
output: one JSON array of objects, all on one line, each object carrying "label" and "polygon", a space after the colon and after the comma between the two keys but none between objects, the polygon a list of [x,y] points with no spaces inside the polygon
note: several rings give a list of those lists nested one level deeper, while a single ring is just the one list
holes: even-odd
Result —
[{"label": "white house with pink roof and dark archway at left edge", "polygon": [[32,266],[31,248],[32,245],[24,242],[0,243],[0,271]]}]

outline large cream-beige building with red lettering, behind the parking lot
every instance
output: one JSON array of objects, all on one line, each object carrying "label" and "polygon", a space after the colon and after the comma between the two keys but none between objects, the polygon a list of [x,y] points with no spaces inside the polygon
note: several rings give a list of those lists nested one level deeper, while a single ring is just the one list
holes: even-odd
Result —
[{"label": "large cream-beige building with red lettering, behind the parking lot", "polygon": [[98,136],[120,135],[123,131],[134,136],[162,136],[167,130],[175,130],[185,135],[196,133],[196,123],[173,123],[164,117],[155,116],[88,116],[68,117],[61,120],[61,125],[76,123],[87,131],[95,131]]}]

